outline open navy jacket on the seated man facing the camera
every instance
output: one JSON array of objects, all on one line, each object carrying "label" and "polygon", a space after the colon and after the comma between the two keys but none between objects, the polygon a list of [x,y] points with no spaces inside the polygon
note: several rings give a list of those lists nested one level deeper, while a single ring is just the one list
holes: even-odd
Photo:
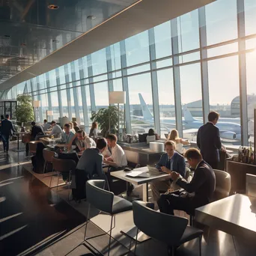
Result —
[{"label": "open navy jacket on the seated man facing the camera", "polygon": [[[172,170],[178,172],[182,177],[185,177],[186,172],[186,162],[183,156],[181,156],[179,153],[175,151],[173,157],[173,164],[172,164]],[[169,168],[168,166],[168,154],[163,153],[159,162],[156,164],[156,168],[161,168],[161,166],[165,166]]]}]

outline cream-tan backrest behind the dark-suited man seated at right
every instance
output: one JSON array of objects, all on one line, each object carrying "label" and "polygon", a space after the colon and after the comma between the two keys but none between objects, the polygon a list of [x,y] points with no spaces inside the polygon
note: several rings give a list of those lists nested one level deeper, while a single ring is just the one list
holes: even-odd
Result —
[{"label": "cream-tan backrest behind the dark-suited man seated at right", "polygon": [[216,177],[216,199],[226,198],[231,192],[231,175],[228,172],[213,169]]}]

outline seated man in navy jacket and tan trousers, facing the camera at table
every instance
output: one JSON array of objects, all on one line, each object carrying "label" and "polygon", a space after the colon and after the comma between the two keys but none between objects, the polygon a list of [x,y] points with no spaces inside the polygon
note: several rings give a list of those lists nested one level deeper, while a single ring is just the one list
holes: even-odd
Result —
[{"label": "seated man in navy jacket and tan trousers, facing the camera at table", "polygon": [[[176,143],[174,141],[165,141],[165,151],[159,162],[156,164],[156,168],[167,173],[171,171],[177,171],[182,177],[185,177],[186,162],[180,153],[175,151]],[[168,177],[165,180],[156,180],[150,183],[153,200],[158,201],[160,198],[160,191],[167,191],[171,186],[172,180]]]}]

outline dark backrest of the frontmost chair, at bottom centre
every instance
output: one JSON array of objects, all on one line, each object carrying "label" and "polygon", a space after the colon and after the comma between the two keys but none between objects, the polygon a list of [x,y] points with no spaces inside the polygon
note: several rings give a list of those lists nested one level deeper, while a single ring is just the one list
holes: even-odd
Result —
[{"label": "dark backrest of the frontmost chair, at bottom centre", "polygon": [[136,227],[149,237],[168,246],[178,245],[188,225],[188,219],[159,213],[146,205],[147,203],[142,201],[132,201],[133,222]]}]

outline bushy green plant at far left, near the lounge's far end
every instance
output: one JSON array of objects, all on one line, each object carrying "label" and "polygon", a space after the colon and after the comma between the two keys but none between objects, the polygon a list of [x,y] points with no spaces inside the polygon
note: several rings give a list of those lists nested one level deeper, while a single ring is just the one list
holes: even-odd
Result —
[{"label": "bushy green plant at far left, near the lounge's far end", "polygon": [[32,97],[29,94],[19,94],[16,97],[17,104],[15,109],[17,124],[28,123],[34,120],[32,107]]}]

